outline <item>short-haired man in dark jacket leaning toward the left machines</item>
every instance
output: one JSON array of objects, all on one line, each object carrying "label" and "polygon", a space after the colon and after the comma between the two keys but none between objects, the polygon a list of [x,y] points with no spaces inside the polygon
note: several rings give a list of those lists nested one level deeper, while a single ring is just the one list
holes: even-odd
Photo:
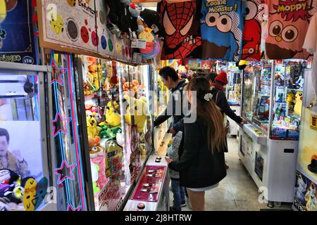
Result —
[{"label": "short-haired man in dark jacket leaning toward the left machines", "polygon": [[182,91],[187,83],[185,79],[179,79],[178,73],[169,66],[162,68],[159,75],[161,76],[164,85],[170,90],[171,95],[168,101],[168,107],[164,113],[154,121],[154,127],[159,126],[173,116],[173,124],[168,132],[174,135],[182,130],[183,127],[181,122],[184,117],[182,109]]}]

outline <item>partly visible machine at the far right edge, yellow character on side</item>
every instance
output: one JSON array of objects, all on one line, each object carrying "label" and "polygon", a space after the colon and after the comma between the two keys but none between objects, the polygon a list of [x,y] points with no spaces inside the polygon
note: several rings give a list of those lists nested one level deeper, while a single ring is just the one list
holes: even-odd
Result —
[{"label": "partly visible machine at the far right edge, yellow character on side", "polygon": [[305,71],[293,204],[293,209],[299,211],[317,210],[317,90],[313,88],[312,76],[312,70]]}]

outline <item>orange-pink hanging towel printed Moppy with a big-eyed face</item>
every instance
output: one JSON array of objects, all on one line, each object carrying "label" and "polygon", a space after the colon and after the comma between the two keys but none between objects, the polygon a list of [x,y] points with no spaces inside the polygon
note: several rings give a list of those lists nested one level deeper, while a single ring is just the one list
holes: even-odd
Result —
[{"label": "orange-pink hanging towel printed Moppy with a big-eyed face", "polygon": [[317,1],[272,0],[268,2],[266,55],[270,59],[309,57],[303,44]]}]

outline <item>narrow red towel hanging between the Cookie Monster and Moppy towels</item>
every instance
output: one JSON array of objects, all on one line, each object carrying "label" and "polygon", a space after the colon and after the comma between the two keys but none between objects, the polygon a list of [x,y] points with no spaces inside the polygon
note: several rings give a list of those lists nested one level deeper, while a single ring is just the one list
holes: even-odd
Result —
[{"label": "narrow red towel hanging between the Cookie Monster and Moppy towels", "polygon": [[261,0],[246,2],[242,38],[242,60],[261,60]]}]

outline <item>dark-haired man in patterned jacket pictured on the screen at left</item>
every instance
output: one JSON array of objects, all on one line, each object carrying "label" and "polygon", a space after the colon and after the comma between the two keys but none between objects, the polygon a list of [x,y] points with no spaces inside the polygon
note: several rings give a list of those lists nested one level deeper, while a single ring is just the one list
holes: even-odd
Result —
[{"label": "dark-haired man in patterned jacket pictured on the screen at left", "polygon": [[4,128],[0,128],[0,169],[10,169],[22,178],[30,175],[27,162],[20,150],[8,150],[10,135]]}]

